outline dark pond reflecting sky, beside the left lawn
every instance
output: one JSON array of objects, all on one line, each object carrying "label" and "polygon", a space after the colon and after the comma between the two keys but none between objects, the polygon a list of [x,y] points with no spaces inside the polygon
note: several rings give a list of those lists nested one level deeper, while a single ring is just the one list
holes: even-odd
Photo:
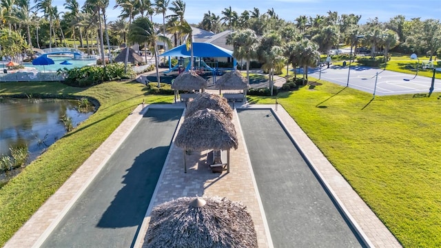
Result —
[{"label": "dark pond reflecting sky, beside the left lawn", "polygon": [[10,155],[10,147],[26,145],[28,162],[48,149],[65,133],[63,116],[76,127],[91,116],[95,108],[79,107],[72,99],[0,99],[0,155]]}]

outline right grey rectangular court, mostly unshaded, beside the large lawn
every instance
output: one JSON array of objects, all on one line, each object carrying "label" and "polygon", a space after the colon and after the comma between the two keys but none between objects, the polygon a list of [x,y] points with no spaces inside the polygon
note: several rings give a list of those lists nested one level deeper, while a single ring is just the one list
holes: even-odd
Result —
[{"label": "right grey rectangular court, mostly unshaded, beside the large lawn", "polygon": [[274,247],[365,247],[271,110],[239,110]]}]

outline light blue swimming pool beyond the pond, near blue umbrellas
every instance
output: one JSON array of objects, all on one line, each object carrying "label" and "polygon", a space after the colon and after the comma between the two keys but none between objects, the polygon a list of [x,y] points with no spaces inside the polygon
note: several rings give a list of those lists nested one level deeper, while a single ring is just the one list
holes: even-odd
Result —
[{"label": "light blue swimming pool beyond the pond, near blue umbrellas", "polygon": [[[53,65],[32,65],[32,62],[23,63],[25,68],[35,68],[39,72],[57,72],[60,68],[81,68],[85,65],[96,65],[96,59],[73,59],[73,56],[50,56],[55,63]],[[69,61],[72,65],[61,65],[63,61]]]}]

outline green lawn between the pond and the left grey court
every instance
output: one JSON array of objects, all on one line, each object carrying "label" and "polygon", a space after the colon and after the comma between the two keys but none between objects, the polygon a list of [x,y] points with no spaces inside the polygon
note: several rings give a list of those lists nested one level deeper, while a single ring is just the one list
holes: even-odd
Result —
[{"label": "green lawn between the pond and the left grey court", "polygon": [[49,147],[19,176],[0,189],[0,246],[25,223],[105,141],[127,115],[145,103],[172,103],[173,96],[150,96],[140,83],[103,83],[87,89],[62,83],[1,83],[0,94],[90,96],[101,107],[87,121]]}]

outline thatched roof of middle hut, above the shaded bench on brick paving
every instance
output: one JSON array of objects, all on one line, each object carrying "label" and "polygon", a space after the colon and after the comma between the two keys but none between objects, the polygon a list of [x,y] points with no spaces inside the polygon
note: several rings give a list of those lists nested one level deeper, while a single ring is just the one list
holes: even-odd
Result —
[{"label": "thatched roof of middle hut, above the shaded bench on brick paving", "polygon": [[205,149],[237,149],[234,124],[214,110],[198,110],[185,118],[174,143],[178,147],[203,151]]}]

